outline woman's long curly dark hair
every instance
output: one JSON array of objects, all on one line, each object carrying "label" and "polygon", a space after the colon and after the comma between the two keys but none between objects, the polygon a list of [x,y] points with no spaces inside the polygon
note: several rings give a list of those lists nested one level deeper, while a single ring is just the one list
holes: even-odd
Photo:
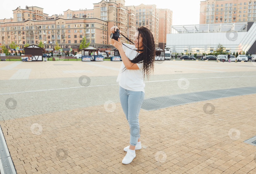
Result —
[{"label": "woman's long curly dark hair", "polygon": [[[130,60],[131,63],[143,63],[143,78],[145,74],[149,79],[150,73],[154,72],[154,62],[155,62],[155,41],[152,32],[144,26],[141,26],[137,29],[139,32],[138,36],[142,37],[143,42],[143,53],[137,54],[137,56]],[[139,45],[138,45],[139,48]],[[126,68],[124,68],[125,70]]]}]

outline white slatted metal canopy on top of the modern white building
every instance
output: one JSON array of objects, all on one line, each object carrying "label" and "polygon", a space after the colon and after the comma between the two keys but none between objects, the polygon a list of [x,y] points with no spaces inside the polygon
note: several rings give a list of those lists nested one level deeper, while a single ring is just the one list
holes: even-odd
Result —
[{"label": "white slatted metal canopy on top of the modern white building", "polygon": [[197,25],[173,25],[173,33],[198,33],[198,32],[229,32],[246,31],[246,22],[221,23],[221,24],[197,24]]}]

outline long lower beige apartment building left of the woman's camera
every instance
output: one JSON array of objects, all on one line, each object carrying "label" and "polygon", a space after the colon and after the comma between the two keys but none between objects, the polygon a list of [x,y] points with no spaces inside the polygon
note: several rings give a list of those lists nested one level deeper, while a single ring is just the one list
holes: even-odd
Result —
[{"label": "long lower beige apartment building left of the woman's camera", "polygon": [[[107,22],[100,19],[25,20],[0,24],[1,42],[7,45],[14,41],[20,48],[26,43],[46,42],[51,48],[57,42],[61,48],[78,51],[82,37],[94,47],[107,48]],[[98,37],[97,37],[98,36]],[[52,42],[52,44],[50,44]]]}]

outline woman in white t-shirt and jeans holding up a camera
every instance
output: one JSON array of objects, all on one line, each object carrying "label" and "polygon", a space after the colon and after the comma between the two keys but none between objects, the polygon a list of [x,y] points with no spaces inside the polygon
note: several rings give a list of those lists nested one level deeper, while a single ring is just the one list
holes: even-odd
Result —
[{"label": "woman in white t-shirt and jeans holding up a camera", "polygon": [[[114,33],[118,27],[113,26],[110,30]],[[109,39],[109,42],[119,50],[122,58],[117,82],[119,82],[119,97],[130,127],[130,145],[124,148],[126,155],[123,164],[129,164],[135,158],[135,150],[141,149],[139,134],[139,111],[142,105],[144,92],[145,74],[149,79],[154,71],[155,42],[151,31],[142,26],[134,35],[134,45],[123,44]]]}]

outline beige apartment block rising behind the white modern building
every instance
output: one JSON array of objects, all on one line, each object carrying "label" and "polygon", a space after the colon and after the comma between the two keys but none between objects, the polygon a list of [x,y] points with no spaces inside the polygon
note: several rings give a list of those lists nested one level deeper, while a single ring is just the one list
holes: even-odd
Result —
[{"label": "beige apartment block rising behind the white modern building", "polygon": [[200,2],[200,24],[256,21],[255,0],[206,0]]}]

